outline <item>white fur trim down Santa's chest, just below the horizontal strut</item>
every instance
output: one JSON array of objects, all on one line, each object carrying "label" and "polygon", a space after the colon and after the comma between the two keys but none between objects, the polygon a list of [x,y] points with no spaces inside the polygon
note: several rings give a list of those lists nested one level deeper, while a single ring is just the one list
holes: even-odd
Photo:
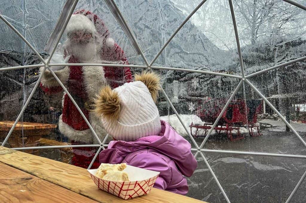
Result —
[{"label": "white fur trim down Santa's chest, just below the horizontal strut", "polygon": [[83,66],[83,79],[88,99],[92,100],[99,94],[101,88],[106,85],[102,66]]}]

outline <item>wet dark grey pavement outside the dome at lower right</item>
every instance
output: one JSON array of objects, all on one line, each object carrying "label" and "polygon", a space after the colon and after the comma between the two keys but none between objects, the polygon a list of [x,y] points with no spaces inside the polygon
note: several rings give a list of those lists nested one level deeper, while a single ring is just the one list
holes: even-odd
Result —
[{"label": "wet dark grey pavement outside the dome at lower right", "polygon": [[[270,129],[271,130],[271,129]],[[204,148],[252,152],[306,155],[304,147],[292,132],[262,130],[262,136],[245,136],[228,141],[226,135],[212,136]],[[306,140],[306,133],[300,133]],[[196,139],[198,145],[203,139]],[[204,153],[212,170],[231,202],[285,202],[306,170],[306,160],[271,156],[249,156]],[[188,178],[189,197],[208,202],[226,202],[202,157]],[[306,183],[291,202],[306,201]]]}]

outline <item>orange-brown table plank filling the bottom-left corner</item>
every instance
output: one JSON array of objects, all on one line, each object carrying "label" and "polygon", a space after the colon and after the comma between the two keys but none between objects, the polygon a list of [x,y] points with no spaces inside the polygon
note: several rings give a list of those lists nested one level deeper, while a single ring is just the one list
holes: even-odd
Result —
[{"label": "orange-brown table plank filling the bottom-left corner", "polygon": [[2,164],[0,165],[0,202],[94,203],[97,201]]}]

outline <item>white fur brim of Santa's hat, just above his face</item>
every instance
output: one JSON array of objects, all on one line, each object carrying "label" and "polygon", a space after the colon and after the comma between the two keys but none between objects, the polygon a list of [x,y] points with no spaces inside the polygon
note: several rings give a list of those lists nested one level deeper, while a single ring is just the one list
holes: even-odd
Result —
[{"label": "white fur brim of Santa's hat, just above his face", "polygon": [[74,14],[71,16],[69,23],[66,27],[66,32],[72,32],[75,30],[88,30],[91,33],[95,33],[95,25],[88,17],[81,14]]}]

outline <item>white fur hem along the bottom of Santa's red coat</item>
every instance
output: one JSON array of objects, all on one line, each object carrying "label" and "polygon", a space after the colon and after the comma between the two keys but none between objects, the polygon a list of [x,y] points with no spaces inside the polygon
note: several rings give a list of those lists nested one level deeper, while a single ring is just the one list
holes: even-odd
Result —
[{"label": "white fur hem along the bottom of Santa's red coat", "polygon": [[59,117],[58,129],[63,135],[74,141],[81,141],[91,144],[94,138],[90,129],[75,130],[67,123],[64,123],[62,120],[62,115]]}]

